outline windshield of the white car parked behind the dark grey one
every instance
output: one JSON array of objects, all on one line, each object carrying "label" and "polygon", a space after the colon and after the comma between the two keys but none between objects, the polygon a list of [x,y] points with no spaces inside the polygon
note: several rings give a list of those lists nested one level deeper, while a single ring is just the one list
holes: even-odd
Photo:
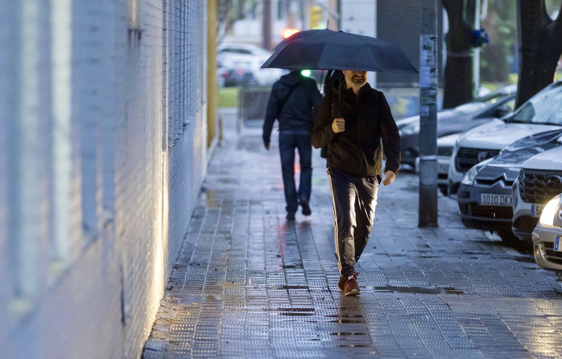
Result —
[{"label": "windshield of the white car parked behind the dark grey one", "polygon": [[529,99],[508,122],[562,126],[562,81]]}]

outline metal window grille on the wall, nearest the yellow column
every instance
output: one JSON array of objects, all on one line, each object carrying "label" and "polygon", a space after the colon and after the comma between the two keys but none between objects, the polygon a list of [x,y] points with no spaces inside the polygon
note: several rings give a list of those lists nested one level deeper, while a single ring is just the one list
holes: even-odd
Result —
[{"label": "metal window grille on the wall, nearest the yellow column", "polygon": [[201,110],[205,2],[164,0],[162,20],[162,148],[174,145]]}]

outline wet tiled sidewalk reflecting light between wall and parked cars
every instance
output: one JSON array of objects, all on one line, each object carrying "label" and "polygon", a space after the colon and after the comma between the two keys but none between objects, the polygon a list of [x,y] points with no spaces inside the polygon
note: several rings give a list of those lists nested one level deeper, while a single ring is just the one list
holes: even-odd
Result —
[{"label": "wet tiled sidewalk reflecting light between wall and parked cars", "polygon": [[144,359],[562,356],[556,276],[465,229],[452,199],[439,228],[418,229],[411,173],[380,188],[362,294],[343,296],[325,160],[312,215],[287,223],[276,134],[269,152],[259,129],[217,149]]}]

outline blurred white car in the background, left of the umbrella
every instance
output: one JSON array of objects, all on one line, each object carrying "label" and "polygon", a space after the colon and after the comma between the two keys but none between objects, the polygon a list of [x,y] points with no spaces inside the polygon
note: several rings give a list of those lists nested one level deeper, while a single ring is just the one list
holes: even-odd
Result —
[{"label": "blurred white car in the background, left of the umbrella", "polygon": [[246,74],[244,79],[247,80],[247,74],[251,74],[256,84],[264,86],[273,84],[287,72],[282,69],[261,69],[270,56],[271,52],[252,44],[222,43],[217,47],[216,57],[224,67],[235,71],[238,76]]}]

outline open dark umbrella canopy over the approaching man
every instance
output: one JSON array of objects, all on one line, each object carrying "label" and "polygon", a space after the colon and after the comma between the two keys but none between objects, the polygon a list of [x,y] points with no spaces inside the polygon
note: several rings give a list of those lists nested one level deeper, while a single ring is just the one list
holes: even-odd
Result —
[{"label": "open dark umbrella canopy over the approaching man", "polygon": [[262,69],[418,72],[393,43],[333,30],[306,30],[285,39]]}]

